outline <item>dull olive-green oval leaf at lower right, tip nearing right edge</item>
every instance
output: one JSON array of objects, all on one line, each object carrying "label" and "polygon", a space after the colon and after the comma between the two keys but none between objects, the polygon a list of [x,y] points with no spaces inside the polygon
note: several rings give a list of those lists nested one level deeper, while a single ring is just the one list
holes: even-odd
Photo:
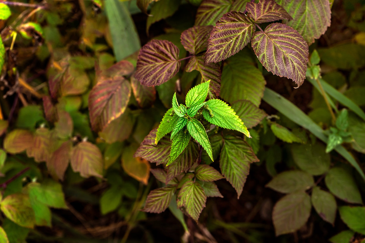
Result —
[{"label": "dull olive-green oval leaf at lower right, tip nearing right edge", "polygon": [[324,178],[327,188],[339,199],[362,204],[361,195],[353,175],[341,167],[334,167]]}]

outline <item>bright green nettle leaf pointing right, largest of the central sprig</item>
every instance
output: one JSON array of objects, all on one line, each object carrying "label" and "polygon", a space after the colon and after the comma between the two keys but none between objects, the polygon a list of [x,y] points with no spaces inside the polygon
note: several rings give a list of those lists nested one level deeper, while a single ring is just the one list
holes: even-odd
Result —
[{"label": "bright green nettle leaf pointing right, largest of the central sprig", "polygon": [[221,128],[237,130],[250,137],[250,133],[243,125],[242,120],[226,102],[220,99],[210,99],[205,105],[209,109],[203,110],[203,116],[208,122]]}]

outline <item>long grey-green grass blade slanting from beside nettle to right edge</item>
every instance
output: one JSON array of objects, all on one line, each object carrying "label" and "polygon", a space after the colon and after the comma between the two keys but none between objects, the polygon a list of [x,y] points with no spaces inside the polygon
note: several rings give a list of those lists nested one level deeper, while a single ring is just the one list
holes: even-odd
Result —
[{"label": "long grey-green grass blade slanting from beside nettle to right edge", "polygon": [[[280,113],[291,119],[293,122],[302,126],[303,128],[308,129],[320,140],[327,143],[328,138],[326,135],[324,135],[322,128],[320,128],[320,126],[318,126],[310,117],[308,117],[308,115],[301,111],[292,102],[288,101],[283,96],[269,88],[265,88],[264,97],[262,97],[262,99]],[[350,164],[354,166],[357,172],[359,172],[361,177],[365,180],[364,172],[361,170],[354,157],[352,157],[352,155],[343,146],[337,146],[335,150],[347,161],[349,161]]]}]

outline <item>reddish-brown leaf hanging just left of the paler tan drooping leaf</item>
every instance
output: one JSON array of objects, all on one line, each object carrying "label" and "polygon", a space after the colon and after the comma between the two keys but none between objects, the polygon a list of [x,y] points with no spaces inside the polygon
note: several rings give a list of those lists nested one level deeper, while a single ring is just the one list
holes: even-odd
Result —
[{"label": "reddish-brown leaf hanging just left of the paler tan drooping leaf", "polygon": [[47,168],[51,175],[64,180],[64,175],[71,158],[71,150],[72,142],[66,141],[51,154],[49,160],[47,160]]}]

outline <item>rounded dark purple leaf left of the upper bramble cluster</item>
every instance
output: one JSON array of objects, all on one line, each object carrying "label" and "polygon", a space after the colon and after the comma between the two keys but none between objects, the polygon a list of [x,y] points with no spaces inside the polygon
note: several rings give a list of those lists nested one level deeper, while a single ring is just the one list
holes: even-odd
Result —
[{"label": "rounded dark purple leaf left of the upper bramble cluster", "polygon": [[139,51],[135,77],[142,85],[156,86],[178,72],[179,49],[167,40],[151,40]]}]

